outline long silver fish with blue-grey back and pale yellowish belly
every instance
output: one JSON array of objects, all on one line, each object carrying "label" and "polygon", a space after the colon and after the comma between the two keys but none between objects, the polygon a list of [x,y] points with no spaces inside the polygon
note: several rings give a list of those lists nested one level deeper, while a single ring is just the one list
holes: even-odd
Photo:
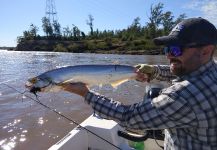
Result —
[{"label": "long silver fish with blue-grey back and pale yellowish belly", "polygon": [[127,65],[77,65],[62,67],[29,79],[30,92],[58,91],[62,83],[83,82],[88,86],[111,84],[116,87],[136,78],[136,68]]}]

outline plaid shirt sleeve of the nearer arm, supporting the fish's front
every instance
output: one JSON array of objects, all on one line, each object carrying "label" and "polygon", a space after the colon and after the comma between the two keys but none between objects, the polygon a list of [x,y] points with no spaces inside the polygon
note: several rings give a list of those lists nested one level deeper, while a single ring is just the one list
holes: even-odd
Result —
[{"label": "plaid shirt sleeve of the nearer arm, supporting the fish's front", "polygon": [[153,100],[133,105],[123,105],[94,92],[89,92],[85,101],[102,118],[115,120],[126,128],[165,129],[197,125],[196,116],[185,99],[168,95],[167,91]]}]

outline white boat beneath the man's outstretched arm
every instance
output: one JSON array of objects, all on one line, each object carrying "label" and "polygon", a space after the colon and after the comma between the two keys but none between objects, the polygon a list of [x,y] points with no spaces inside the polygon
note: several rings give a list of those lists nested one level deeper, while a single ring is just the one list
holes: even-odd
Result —
[{"label": "white boat beneath the man's outstretched arm", "polygon": [[[159,87],[153,86],[152,89],[156,89],[156,91],[153,90],[151,94],[158,94]],[[146,91],[146,93],[148,92],[149,90]],[[120,133],[120,131],[124,131],[124,129],[115,121],[91,115],[59,142],[51,146],[49,150],[135,150],[129,146],[127,139],[119,136],[118,132]],[[151,136],[156,138],[155,133]],[[149,135],[149,138],[151,136]],[[160,141],[157,140],[160,145],[163,145],[162,140],[163,137],[160,133]],[[142,143],[145,144],[146,150],[161,149],[155,142],[153,139],[147,140],[146,136],[145,142]]]}]

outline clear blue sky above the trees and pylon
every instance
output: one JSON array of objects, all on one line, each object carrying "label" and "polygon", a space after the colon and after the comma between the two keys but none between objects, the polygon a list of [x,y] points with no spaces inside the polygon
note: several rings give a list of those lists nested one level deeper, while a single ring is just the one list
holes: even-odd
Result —
[{"label": "clear blue sky above the trees and pylon", "polygon": [[[204,17],[217,26],[217,0],[54,0],[61,27],[72,24],[84,32],[88,15],[94,18],[94,29],[116,30],[128,27],[136,17],[146,25],[151,5],[161,2],[164,11],[175,17],[185,13],[188,17]],[[41,19],[45,16],[46,0],[0,1],[0,46],[16,46],[16,39],[31,23],[43,35]]]}]

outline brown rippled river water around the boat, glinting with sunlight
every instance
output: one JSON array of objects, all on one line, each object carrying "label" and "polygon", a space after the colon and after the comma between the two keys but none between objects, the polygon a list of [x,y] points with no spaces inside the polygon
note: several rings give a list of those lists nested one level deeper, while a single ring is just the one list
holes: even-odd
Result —
[{"label": "brown rippled river water around the boat, glinting with sunlight", "polygon": [[[72,54],[53,52],[0,51],[0,149],[45,150],[55,144],[75,125],[37,104],[17,91],[25,91],[25,82],[47,70],[80,64],[167,64],[165,56]],[[15,88],[14,89],[8,87]],[[93,90],[126,104],[141,101],[146,83],[129,81],[117,89],[106,85]],[[40,93],[39,100],[80,123],[92,110],[77,95]]]}]

